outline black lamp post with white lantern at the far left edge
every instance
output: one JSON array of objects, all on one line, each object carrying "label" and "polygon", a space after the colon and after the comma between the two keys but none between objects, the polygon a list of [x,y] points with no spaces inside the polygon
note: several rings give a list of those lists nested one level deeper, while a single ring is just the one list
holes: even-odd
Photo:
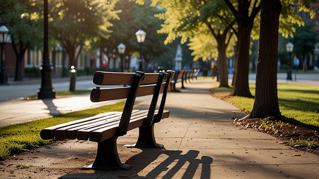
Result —
[{"label": "black lamp post with white lantern at the far left edge", "polygon": [[4,47],[8,39],[9,30],[4,23],[1,23],[0,27],[0,44],[1,44],[1,73],[0,73],[0,84],[8,84],[8,76],[5,68],[4,60]]}]

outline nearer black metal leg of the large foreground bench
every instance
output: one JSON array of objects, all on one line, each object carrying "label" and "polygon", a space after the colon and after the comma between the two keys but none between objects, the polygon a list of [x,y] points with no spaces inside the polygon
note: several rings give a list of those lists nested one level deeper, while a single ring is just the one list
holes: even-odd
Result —
[{"label": "nearer black metal leg of the large foreground bench", "polygon": [[97,154],[92,165],[84,166],[84,169],[100,169],[100,170],[127,170],[130,168],[128,164],[122,164],[117,152],[117,137],[113,137],[97,144]]}]

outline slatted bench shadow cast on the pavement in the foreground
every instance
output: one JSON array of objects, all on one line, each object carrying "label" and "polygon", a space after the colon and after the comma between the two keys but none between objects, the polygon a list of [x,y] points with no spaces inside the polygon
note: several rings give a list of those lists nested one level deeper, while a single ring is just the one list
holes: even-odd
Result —
[{"label": "slatted bench shadow cast on the pavement in the foreground", "polygon": [[[99,176],[102,178],[117,178],[119,175],[129,178],[173,178],[176,177],[176,174],[179,178],[193,178],[194,176],[209,178],[210,176],[210,164],[213,159],[208,156],[202,156],[198,159],[198,150],[189,150],[186,154],[182,154],[181,150],[140,149],[142,149],[142,152],[125,162],[132,165],[128,170],[94,170],[94,173],[67,174],[59,178],[77,178],[80,176],[81,178],[98,178]],[[141,171],[142,174],[140,175],[143,176],[139,176]],[[145,175],[145,173],[147,174]]]}]

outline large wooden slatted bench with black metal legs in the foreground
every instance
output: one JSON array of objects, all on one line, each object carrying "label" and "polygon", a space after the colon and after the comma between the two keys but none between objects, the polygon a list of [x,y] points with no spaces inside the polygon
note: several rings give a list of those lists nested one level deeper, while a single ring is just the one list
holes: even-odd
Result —
[{"label": "large wooden slatted bench with black metal legs in the foreground", "polygon": [[[170,112],[164,110],[167,91],[174,71],[159,73],[102,72],[94,74],[96,85],[119,85],[113,88],[96,87],[91,91],[91,101],[108,101],[126,98],[122,112],[108,112],[96,116],[79,119],[51,127],[40,132],[42,139],[78,139],[97,142],[97,155],[93,169],[128,169],[130,165],[122,164],[116,141],[127,131],[139,127],[139,137],[135,147],[163,147],[154,138],[154,123],[169,117]],[[159,97],[160,93],[162,98]],[[152,95],[148,110],[133,109],[138,96]],[[157,100],[161,103],[157,108]]]}]

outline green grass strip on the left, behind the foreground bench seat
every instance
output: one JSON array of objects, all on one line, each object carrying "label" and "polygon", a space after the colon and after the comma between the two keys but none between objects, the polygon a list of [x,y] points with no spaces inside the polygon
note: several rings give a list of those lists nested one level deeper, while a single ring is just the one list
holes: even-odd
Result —
[{"label": "green grass strip on the left, behind the foreground bench seat", "polygon": [[40,131],[46,127],[57,125],[100,113],[122,111],[124,102],[95,109],[62,114],[45,119],[0,127],[0,160],[18,154],[22,149],[36,148],[54,142],[42,140]]}]

